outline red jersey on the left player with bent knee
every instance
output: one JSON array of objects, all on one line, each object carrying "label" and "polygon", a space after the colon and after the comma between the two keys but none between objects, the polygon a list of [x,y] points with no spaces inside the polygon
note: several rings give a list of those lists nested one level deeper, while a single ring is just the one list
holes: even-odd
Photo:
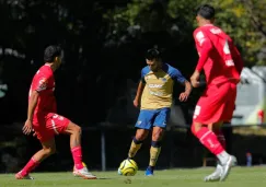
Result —
[{"label": "red jersey on the left player with bent knee", "polygon": [[47,113],[56,113],[57,106],[54,90],[54,72],[50,66],[44,65],[34,75],[28,93],[28,98],[31,97],[31,93],[33,91],[37,91],[39,93],[37,105],[34,110],[33,121],[37,122],[37,117],[44,116]]}]

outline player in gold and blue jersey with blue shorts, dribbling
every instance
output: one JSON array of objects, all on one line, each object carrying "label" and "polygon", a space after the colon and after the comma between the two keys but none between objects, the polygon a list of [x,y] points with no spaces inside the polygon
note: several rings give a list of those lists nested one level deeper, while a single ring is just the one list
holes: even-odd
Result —
[{"label": "player in gold and blue jersey with blue shorts, dribbling", "polygon": [[158,49],[152,48],[147,51],[146,62],[148,66],[141,70],[141,81],[134,100],[136,107],[141,104],[135,126],[137,131],[128,152],[128,159],[136,155],[149,130],[152,130],[150,163],[146,171],[146,175],[151,176],[161,151],[162,136],[170,117],[173,85],[174,83],[185,85],[185,91],[178,97],[182,102],[185,102],[189,96],[192,85],[177,69],[162,61],[161,52]]}]

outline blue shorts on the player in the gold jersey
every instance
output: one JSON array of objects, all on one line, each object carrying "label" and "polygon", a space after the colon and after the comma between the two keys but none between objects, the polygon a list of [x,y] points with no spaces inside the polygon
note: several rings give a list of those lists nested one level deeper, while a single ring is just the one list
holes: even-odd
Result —
[{"label": "blue shorts on the player in the gold jersey", "polygon": [[147,130],[153,126],[165,128],[170,118],[170,112],[171,108],[141,109],[135,127]]}]

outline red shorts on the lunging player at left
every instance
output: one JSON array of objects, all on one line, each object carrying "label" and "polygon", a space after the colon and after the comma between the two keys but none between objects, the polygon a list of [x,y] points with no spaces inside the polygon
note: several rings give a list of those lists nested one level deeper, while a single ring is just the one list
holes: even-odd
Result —
[{"label": "red shorts on the lunging player at left", "polygon": [[55,113],[39,115],[33,120],[33,129],[41,142],[48,141],[55,135],[63,133],[70,120]]}]

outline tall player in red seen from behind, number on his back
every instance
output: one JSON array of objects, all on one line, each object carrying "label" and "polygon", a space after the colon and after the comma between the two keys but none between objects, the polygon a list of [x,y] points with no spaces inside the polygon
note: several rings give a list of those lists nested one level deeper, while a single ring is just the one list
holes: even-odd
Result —
[{"label": "tall player in red seen from behind, number on his back", "polygon": [[212,24],[211,5],[199,7],[196,20],[198,28],[194,31],[194,39],[199,59],[190,81],[198,87],[204,69],[207,89],[196,105],[192,131],[219,160],[216,172],[205,180],[224,180],[236,159],[224,151],[225,139],[220,126],[232,118],[243,61],[230,36]]}]

